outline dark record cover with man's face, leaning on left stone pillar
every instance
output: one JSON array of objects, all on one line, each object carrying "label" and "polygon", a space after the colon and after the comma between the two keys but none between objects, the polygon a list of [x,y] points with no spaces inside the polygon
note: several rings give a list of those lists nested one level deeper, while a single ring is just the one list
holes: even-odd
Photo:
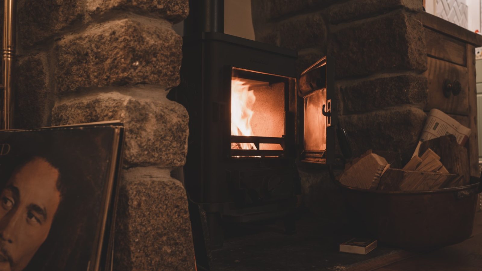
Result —
[{"label": "dark record cover with man's face, leaning on left stone pillar", "polygon": [[121,124],[0,131],[0,271],[109,267]]}]

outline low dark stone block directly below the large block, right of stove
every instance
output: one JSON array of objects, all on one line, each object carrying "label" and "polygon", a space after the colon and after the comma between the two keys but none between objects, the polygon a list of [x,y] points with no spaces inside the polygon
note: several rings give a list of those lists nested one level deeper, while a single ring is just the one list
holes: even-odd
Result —
[{"label": "low dark stone block directly below the large block, right of stove", "polygon": [[345,113],[414,104],[424,108],[428,82],[423,75],[400,74],[337,82]]}]

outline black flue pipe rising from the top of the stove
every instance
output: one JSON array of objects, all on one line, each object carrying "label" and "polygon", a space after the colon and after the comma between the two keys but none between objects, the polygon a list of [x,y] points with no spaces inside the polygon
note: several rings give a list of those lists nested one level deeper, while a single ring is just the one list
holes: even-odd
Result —
[{"label": "black flue pipe rising from the top of the stove", "polygon": [[184,36],[202,32],[224,32],[224,0],[189,0]]}]

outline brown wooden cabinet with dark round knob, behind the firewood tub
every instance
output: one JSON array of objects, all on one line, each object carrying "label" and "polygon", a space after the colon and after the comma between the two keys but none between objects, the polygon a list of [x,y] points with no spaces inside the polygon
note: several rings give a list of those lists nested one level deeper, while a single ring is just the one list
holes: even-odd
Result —
[{"label": "brown wooden cabinet with dark round knob, behind the firewood tub", "polygon": [[[427,48],[428,101],[424,108],[437,108],[472,129],[469,142],[470,175],[479,176],[477,142],[477,90],[475,48],[482,36],[428,13],[420,13]],[[460,92],[445,92],[444,84],[459,85]]]}]

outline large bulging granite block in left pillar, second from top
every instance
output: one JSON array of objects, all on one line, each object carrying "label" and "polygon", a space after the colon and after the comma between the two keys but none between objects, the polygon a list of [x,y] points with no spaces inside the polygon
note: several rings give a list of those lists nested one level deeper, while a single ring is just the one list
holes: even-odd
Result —
[{"label": "large bulging granite block in left pillar, second from top", "polygon": [[125,84],[179,84],[182,38],[163,20],[125,18],[59,41],[57,92]]}]

